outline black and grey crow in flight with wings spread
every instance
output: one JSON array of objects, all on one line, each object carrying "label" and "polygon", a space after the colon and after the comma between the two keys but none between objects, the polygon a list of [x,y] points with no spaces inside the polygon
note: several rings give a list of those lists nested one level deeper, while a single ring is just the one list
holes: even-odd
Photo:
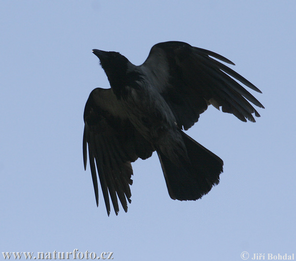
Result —
[{"label": "black and grey crow in flight with wings spread", "polygon": [[95,88],[83,114],[84,169],[88,150],[97,206],[99,178],[108,216],[111,203],[117,216],[118,199],[127,212],[131,162],[154,151],[172,199],[197,200],[218,185],[222,159],[184,131],[210,105],[255,122],[260,115],[253,106],[264,107],[242,85],[261,91],[227,67],[224,63],[235,65],[227,58],[181,41],[155,44],[139,66],[119,52],[92,52],[111,86]]}]

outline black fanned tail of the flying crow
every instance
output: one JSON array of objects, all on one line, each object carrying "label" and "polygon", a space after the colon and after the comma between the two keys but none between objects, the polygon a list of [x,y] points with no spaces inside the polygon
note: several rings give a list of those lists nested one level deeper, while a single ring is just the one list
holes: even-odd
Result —
[{"label": "black fanned tail of the flying crow", "polygon": [[190,162],[181,158],[181,164],[174,164],[160,150],[157,150],[157,154],[170,197],[196,200],[207,194],[214,185],[218,185],[223,161],[183,131],[180,132]]}]

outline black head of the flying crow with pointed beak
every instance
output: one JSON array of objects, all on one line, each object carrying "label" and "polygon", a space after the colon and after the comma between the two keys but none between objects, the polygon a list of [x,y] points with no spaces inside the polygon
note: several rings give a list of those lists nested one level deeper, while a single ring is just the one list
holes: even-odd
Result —
[{"label": "black head of the flying crow with pointed beak", "polygon": [[100,64],[110,82],[126,74],[129,61],[120,53],[106,52],[97,49],[93,49],[92,52],[100,59]]}]

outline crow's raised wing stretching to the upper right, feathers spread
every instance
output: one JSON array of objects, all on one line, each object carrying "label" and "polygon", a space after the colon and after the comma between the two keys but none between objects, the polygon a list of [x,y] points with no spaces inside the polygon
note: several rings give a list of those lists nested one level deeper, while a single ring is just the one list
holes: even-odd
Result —
[{"label": "crow's raised wing stretching to the upper right, feathers spread", "polygon": [[242,121],[255,122],[252,114],[260,115],[250,102],[264,107],[240,83],[261,91],[218,60],[234,65],[212,51],[169,41],[155,44],[140,67],[169,104],[179,127],[185,130],[197,122],[199,114],[210,104]]}]

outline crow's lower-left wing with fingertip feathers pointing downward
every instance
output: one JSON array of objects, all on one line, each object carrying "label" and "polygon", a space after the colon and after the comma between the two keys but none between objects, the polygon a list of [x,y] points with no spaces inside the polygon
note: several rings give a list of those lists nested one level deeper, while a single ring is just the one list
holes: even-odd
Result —
[{"label": "crow's lower-left wing with fingertip feathers pointing downward", "polygon": [[97,205],[99,195],[96,167],[108,215],[109,194],[116,215],[119,211],[117,196],[126,212],[126,198],[131,202],[129,187],[132,185],[133,174],[131,162],[138,157],[142,159],[150,157],[154,149],[130,123],[111,89],[94,89],[86,102],[83,117],[84,168],[86,168],[88,145]]}]

